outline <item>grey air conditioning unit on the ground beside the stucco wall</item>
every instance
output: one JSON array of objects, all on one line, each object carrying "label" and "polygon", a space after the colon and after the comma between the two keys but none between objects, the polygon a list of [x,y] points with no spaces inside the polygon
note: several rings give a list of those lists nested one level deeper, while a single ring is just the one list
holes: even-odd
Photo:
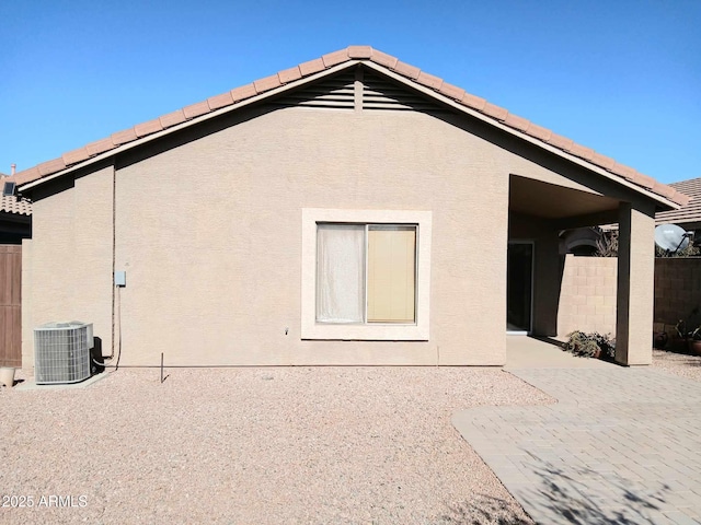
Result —
[{"label": "grey air conditioning unit on the ground beside the stucco wall", "polygon": [[34,328],[37,385],[79,383],[90,377],[92,323],[47,323]]}]

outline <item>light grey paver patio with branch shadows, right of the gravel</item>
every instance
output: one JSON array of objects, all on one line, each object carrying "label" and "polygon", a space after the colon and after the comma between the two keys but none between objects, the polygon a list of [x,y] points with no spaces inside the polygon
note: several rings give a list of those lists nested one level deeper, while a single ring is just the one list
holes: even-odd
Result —
[{"label": "light grey paver patio with branch shadows, right of the gravel", "polygon": [[453,424],[538,523],[701,524],[701,383],[648,369],[508,369],[558,399]]}]

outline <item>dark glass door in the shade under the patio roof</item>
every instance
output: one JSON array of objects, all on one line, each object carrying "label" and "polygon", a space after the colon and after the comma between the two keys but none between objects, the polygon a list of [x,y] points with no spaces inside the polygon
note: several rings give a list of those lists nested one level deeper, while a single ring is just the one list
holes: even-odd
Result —
[{"label": "dark glass door in the shade under the patio roof", "polygon": [[506,331],[531,331],[533,243],[509,242],[506,261]]}]

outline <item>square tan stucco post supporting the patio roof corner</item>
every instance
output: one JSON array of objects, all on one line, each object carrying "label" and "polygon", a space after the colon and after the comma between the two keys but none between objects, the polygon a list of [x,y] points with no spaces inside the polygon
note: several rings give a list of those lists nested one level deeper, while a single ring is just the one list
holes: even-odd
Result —
[{"label": "square tan stucco post supporting the patio roof corner", "polygon": [[652,203],[619,206],[616,361],[652,363],[655,282],[655,209]]}]

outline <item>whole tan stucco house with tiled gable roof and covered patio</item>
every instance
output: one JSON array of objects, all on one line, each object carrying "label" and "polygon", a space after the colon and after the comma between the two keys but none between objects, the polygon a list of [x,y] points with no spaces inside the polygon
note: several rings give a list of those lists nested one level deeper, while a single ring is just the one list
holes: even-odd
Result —
[{"label": "whole tan stucco house with tiled gable roof and covered patio", "polygon": [[646,364],[655,212],[687,201],[368,46],[16,177],[25,366],[67,319],[122,364],[503,365],[507,330],[558,332],[559,232],[610,222],[617,359]]}]

